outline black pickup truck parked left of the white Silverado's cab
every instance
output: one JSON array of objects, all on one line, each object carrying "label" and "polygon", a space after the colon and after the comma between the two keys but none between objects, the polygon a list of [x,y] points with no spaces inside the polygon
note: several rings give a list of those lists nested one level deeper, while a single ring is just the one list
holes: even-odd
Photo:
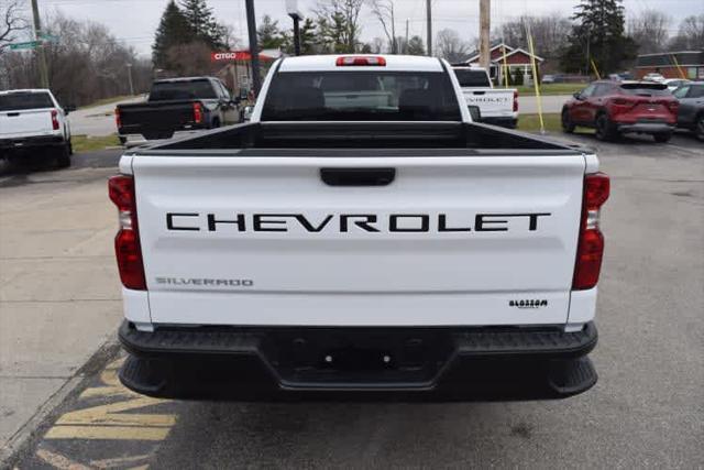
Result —
[{"label": "black pickup truck parked left of the white Silverado's cab", "polygon": [[215,77],[162,79],[152,84],[146,102],[119,105],[116,121],[123,144],[170,139],[239,122],[239,98]]}]

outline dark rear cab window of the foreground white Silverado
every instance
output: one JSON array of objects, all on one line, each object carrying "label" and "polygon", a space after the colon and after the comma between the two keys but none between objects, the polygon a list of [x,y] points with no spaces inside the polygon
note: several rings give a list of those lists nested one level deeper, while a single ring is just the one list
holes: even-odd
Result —
[{"label": "dark rear cab window of the foreground white Silverado", "polygon": [[277,72],[262,121],[461,121],[447,72]]}]

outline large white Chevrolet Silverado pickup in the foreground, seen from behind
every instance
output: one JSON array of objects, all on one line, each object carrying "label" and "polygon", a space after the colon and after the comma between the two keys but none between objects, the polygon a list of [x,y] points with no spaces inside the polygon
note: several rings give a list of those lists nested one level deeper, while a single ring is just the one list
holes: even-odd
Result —
[{"label": "large white Chevrolet Silverado pickup in the foreground, seen from behind", "polygon": [[[319,87],[354,101],[370,77],[393,106]],[[120,378],[139,393],[526,400],[596,382],[609,179],[584,150],[471,122],[444,61],[279,59],[251,122],[129,151],[120,173]]]}]

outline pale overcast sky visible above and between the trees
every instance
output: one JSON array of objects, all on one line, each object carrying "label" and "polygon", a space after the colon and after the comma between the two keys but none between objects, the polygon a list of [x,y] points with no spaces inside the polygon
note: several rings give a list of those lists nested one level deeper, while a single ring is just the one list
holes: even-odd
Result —
[{"label": "pale overcast sky visible above and between the trees", "polygon": [[[30,0],[26,0],[29,4]],[[61,11],[67,17],[90,19],[110,28],[116,36],[135,47],[142,54],[148,54],[154,31],[168,0],[40,0],[44,12]],[[231,24],[243,40],[246,37],[244,0],[208,0],[218,21]],[[317,0],[299,0],[300,10],[310,11]],[[493,0],[492,25],[516,19],[522,14],[572,13],[578,0]],[[672,18],[671,34],[683,18],[704,12],[704,0],[625,0],[626,14],[638,14],[647,9],[661,10]],[[255,0],[257,19],[270,14],[280,25],[289,26],[286,17],[285,0]],[[425,39],[426,0],[395,0],[396,30],[405,33],[408,19],[410,35],[419,34]],[[371,41],[383,36],[383,31],[369,9],[361,15],[362,37]],[[479,0],[433,0],[433,28],[457,30],[463,39],[471,40],[479,30]]]}]

